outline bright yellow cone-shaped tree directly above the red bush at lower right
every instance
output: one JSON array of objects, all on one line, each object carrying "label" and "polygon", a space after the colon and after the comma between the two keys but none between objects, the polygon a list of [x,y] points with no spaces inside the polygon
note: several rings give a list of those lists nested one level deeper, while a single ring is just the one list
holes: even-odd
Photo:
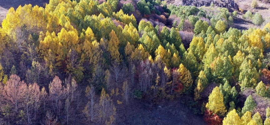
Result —
[{"label": "bright yellow cone-shaped tree directly above the red bush at lower right", "polygon": [[224,115],[227,110],[223,103],[223,95],[220,93],[218,87],[215,87],[212,93],[209,95],[208,103],[206,108],[211,110],[213,113]]}]

